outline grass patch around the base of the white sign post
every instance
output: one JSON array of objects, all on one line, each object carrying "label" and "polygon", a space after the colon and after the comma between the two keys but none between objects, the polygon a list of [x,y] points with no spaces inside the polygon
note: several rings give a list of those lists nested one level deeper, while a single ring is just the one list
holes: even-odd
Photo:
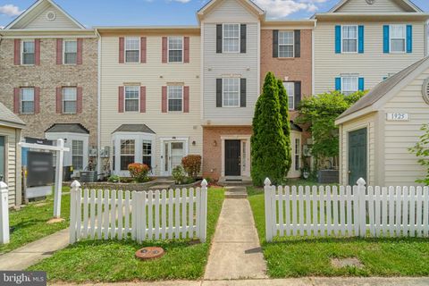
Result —
[{"label": "grass patch around the base of the white sign post", "polygon": [[[69,191],[69,188],[63,188],[63,191]],[[14,227],[11,233],[11,242],[0,245],[0,255],[13,249],[39,240],[56,231],[61,231],[69,226],[70,216],[70,196],[64,195],[61,204],[61,216],[65,219],[63,223],[46,223],[54,214],[54,197],[48,197],[46,200],[29,203],[18,211],[9,213],[9,224]]]}]

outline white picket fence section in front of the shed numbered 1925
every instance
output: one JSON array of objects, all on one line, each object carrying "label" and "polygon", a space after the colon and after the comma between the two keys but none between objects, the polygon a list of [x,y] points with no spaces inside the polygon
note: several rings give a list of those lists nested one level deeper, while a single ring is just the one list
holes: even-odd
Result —
[{"label": "white picket fence section in front of the shed numbered 1925", "polygon": [[275,236],[429,237],[428,187],[272,186],[266,240]]}]

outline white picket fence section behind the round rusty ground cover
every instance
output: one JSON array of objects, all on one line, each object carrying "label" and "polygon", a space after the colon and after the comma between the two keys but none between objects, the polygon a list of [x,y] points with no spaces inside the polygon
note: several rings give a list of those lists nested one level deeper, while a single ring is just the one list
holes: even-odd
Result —
[{"label": "white picket fence section behind the round rusty ground cover", "polygon": [[207,182],[149,191],[80,189],[71,184],[70,243],[81,239],[206,241]]}]

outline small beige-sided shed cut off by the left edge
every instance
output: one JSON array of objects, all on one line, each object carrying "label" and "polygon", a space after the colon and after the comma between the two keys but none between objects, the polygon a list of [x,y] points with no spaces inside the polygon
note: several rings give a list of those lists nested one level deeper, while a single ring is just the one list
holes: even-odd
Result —
[{"label": "small beige-sided shed cut off by the left edge", "polygon": [[9,187],[9,206],[20,206],[21,130],[25,123],[0,103],[0,181]]}]

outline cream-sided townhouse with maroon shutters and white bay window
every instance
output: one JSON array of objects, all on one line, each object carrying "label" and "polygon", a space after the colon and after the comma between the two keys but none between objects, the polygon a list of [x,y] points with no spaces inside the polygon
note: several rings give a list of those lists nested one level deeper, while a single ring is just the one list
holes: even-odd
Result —
[{"label": "cream-sided townhouse with maroon shutters and white bay window", "polygon": [[97,29],[101,164],[128,176],[128,164],[145,163],[169,176],[202,152],[199,28]]}]

